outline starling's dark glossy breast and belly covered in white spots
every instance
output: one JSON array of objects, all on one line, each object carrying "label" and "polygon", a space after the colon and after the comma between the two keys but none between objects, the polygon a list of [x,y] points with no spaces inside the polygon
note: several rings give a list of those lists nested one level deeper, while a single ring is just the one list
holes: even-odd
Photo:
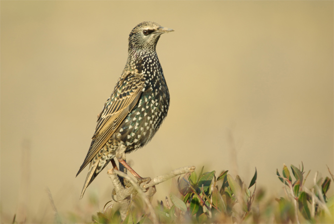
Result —
[{"label": "starling's dark glossy breast and belly covered in white spots", "polygon": [[[157,61],[157,64],[159,62]],[[144,86],[138,103],[119,126],[118,138],[127,146],[129,153],[147,144],[169,108],[169,91],[162,69],[148,66],[142,70]]]}]

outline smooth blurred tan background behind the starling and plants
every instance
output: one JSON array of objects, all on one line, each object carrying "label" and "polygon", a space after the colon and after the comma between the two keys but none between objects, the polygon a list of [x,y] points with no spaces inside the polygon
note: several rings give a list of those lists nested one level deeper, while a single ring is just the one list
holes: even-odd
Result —
[{"label": "smooth blurred tan background behind the starling and plants", "polygon": [[[127,156],[142,176],[230,170],[283,194],[283,164],[333,172],[333,1],[1,1],[1,223],[88,222],[111,200],[104,169],[80,192],[97,114],[150,20],[170,90],[152,141]],[[111,164],[107,168],[111,168]],[[172,181],[157,186],[164,200]],[[330,191],[333,192],[333,186]],[[49,193],[48,193],[49,192]],[[333,193],[332,193],[333,194]],[[95,198],[96,207],[85,208]],[[85,208],[85,209],[83,209]]]}]

